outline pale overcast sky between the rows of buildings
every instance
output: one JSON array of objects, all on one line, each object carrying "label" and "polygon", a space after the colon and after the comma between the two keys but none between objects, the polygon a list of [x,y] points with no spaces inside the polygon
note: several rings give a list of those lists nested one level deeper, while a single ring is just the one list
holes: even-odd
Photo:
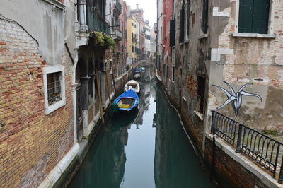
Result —
[{"label": "pale overcast sky between the rows of buildings", "polygon": [[131,6],[132,9],[136,9],[139,4],[139,8],[144,10],[144,18],[149,20],[150,25],[156,23],[156,0],[124,0],[128,6]]}]

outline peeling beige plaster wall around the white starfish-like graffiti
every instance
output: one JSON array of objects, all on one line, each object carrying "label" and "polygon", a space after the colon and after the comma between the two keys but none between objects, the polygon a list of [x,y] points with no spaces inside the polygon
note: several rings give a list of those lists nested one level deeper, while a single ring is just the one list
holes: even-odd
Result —
[{"label": "peeling beige plaster wall around the white starfish-like graffiti", "polygon": [[[224,93],[212,87],[212,84],[222,86],[229,90],[225,83],[227,81],[234,90],[238,90],[246,83],[253,83],[245,90],[250,93],[258,94],[262,97],[262,102],[255,97],[243,96],[243,104],[239,111],[239,122],[248,124],[256,129],[264,129],[267,126],[281,127],[283,125],[283,37],[282,37],[282,18],[283,3],[275,2],[274,33],[273,38],[255,37],[233,37],[236,32],[236,1],[212,1],[212,6],[219,7],[219,12],[227,13],[228,16],[211,17],[211,37],[212,48],[219,49],[219,59],[212,55],[210,66],[217,71],[214,74],[210,71],[210,91],[212,94],[209,109],[221,105],[226,101]],[[212,52],[213,54],[213,52]],[[218,70],[214,69],[217,64]],[[220,70],[221,71],[220,71]],[[218,75],[217,77],[214,75]],[[220,76],[221,75],[221,76]],[[224,107],[220,112],[233,117],[233,109]]]}]

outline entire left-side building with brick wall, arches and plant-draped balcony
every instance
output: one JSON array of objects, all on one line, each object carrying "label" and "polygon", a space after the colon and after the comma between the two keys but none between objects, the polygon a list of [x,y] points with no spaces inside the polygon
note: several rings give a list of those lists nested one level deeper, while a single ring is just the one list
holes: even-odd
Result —
[{"label": "entire left-side building with brick wall, arches and plant-draped balcony", "polygon": [[86,149],[125,73],[122,4],[2,2],[1,187],[52,187]]}]

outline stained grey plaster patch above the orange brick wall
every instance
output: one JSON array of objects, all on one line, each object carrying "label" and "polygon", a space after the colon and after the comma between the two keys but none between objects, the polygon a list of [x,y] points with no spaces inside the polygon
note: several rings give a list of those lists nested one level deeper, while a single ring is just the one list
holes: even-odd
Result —
[{"label": "stained grey plaster patch above the orange brick wall", "polygon": [[[39,44],[48,65],[59,64],[64,52],[64,11],[43,0],[1,1],[0,13],[15,20]],[[11,8],[6,8],[11,7]],[[18,8],[25,11],[18,11]]]}]

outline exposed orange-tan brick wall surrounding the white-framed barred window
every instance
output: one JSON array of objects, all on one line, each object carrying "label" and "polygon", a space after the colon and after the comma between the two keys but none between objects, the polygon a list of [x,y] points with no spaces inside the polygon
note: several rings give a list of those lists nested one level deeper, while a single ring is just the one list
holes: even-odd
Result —
[{"label": "exposed orange-tan brick wall surrounding the white-framed barred window", "polygon": [[74,143],[71,64],[64,58],[66,105],[46,116],[36,40],[11,20],[0,30],[0,184],[36,187]]}]

